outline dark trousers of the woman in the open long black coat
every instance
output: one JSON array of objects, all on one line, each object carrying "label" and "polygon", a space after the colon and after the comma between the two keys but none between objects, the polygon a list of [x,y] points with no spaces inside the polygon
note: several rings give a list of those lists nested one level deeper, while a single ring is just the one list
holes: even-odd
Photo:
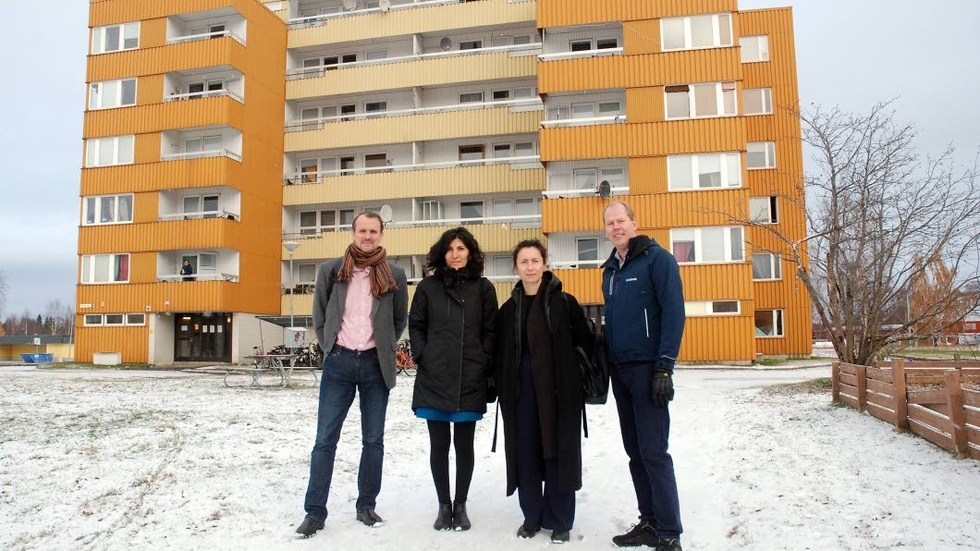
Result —
[{"label": "dark trousers of the woman in the open long black coat", "polygon": [[[558,490],[558,458],[545,459],[541,423],[534,393],[531,358],[521,360],[521,391],[517,400],[517,497],[524,525],[568,531],[575,522],[575,492]],[[541,485],[544,484],[544,492]]]}]

